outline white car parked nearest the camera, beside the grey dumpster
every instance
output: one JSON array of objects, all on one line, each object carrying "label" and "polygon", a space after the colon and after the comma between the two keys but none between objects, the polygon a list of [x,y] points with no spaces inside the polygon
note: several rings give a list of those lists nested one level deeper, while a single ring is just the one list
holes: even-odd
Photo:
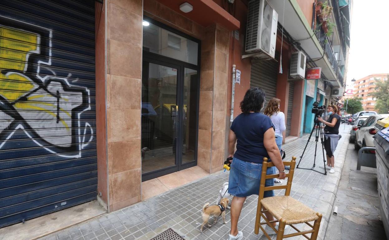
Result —
[{"label": "white car parked nearest the camera, beside the grey dumpster", "polygon": [[373,136],[377,133],[374,126],[378,120],[385,117],[389,117],[389,114],[375,114],[369,116],[363,122],[362,126],[355,132],[354,146],[356,150],[359,150],[361,147],[374,147]]}]

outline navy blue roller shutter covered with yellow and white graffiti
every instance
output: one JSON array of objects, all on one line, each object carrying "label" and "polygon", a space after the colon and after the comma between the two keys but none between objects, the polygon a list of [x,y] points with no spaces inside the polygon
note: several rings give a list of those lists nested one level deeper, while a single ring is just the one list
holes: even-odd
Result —
[{"label": "navy blue roller shutter covered with yellow and white graffiti", "polygon": [[96,199],[95,1],[0,1],[0,228]]}]

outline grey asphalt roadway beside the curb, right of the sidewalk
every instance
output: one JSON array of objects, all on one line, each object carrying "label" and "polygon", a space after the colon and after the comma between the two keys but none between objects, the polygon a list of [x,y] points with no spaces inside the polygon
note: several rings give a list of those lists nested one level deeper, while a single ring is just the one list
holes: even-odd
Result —
[{"label": "grey asphalt roadway beside the curb, right of the sidewalk", "polygon": [[356,168],[357,151],[349,144],[335,199],[338,215],[331,215],[326,239],[387,239],[380,219],[376,169]]}]

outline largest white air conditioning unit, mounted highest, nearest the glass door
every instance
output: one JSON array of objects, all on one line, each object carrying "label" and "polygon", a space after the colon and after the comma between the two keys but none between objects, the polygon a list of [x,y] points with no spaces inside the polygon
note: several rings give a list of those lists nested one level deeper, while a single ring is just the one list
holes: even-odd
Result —
[{"label": "largest white air conditioning unit, mounted highest, nearest the glass door", "polygon": [[247,14],[245,53],[242,58],[274,58],[278,14],[267,0],[251,0]]}]

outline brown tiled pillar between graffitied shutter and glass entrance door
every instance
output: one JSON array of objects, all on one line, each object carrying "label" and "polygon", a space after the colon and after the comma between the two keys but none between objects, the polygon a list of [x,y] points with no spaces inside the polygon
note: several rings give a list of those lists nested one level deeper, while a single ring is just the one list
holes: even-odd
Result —
[{"label": "brown tiled pillar between graffitied shutter and glass entrance door", "polygon": [[142,0],[107,2],[109,207],[140,201]]}]

